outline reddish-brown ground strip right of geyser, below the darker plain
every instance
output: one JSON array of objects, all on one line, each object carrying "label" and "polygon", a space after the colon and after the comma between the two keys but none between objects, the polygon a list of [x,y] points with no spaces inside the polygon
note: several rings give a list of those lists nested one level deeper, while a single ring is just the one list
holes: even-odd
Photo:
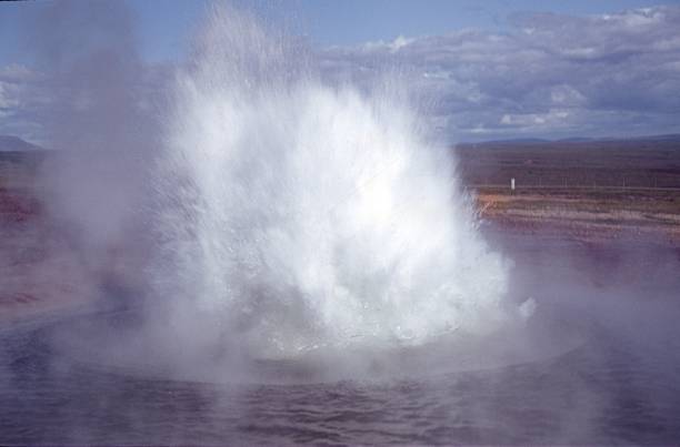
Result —
[{"label": "reddish-brown ground strip right of geyser, below the darker plain", "polygon": [[680,246],[680,192],[501,191],[480,187],[480,216],[501,228],[587,242],[653,240]]}]

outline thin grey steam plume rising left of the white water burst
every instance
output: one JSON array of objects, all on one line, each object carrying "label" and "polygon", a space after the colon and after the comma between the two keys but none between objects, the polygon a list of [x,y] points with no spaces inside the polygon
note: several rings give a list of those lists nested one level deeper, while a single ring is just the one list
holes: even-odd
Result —
[{"label": "thin grey steam plume rising left of the white water burst", "polygon": [[57,104],[42,111],[47,144],[59,150],[42,172],[43,203],[90,275],[114,256],[139,264],[166,88],[138,57],[124,4],[53,3],[27,14],[24,43]]}]

